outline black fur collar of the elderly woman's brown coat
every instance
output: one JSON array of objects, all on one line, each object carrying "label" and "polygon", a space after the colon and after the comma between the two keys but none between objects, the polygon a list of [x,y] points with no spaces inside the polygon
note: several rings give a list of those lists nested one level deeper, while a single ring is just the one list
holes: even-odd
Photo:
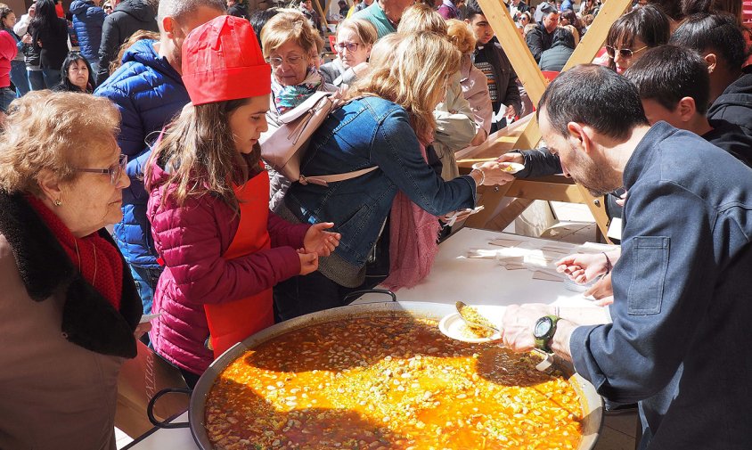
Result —
[{"label": "black fur collar of the elderly woman's brown coat", "polygon": [[[125,259],[120,257],[123,288],[118,311],[81,276],[22,194],[0,192],[0,234],[12,247],[31,299],[41,302],[65,292],[61,332],[67,340],[102,355],[136,356],[134,331],[143,307]],[[99,234],[115,246],[107,230]]]}]

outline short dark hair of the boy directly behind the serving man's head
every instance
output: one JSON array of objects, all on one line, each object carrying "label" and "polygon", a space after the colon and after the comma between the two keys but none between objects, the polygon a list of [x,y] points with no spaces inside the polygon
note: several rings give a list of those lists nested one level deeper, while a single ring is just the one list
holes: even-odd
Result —
[{"label": "short dark hair of the boy directly behind the serving man's head", "polygon": [[683,97],[695,101],[699,114],[710,102],[710,76],[699,53],[678,45],[651,48],[626,70],[624,76],[637,86],[642,100],[654,100],[675,110]]}]

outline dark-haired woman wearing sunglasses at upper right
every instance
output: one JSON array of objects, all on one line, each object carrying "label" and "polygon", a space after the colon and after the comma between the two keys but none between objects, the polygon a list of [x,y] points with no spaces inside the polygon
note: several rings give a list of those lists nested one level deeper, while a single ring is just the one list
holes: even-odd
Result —
[{"label": "dark-haired woman wearing sunglasses at upper right", "polygon": [[670,24],[666,14],[648,4],[619,17],[606,37],[609,68],[622,74],[642,53],[668,43]]}]

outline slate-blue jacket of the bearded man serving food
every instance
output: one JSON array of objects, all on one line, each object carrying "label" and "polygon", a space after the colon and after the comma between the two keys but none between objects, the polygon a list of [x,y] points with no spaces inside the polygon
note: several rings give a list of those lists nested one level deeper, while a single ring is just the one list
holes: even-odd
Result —
[{"label": "slate-blue jacket of the bearded man serving food", "polygon": [[658,122],[624,183],[614,322],[573,332],[576,371],[640,401],[642,448],[752,448],[752,169]]}]

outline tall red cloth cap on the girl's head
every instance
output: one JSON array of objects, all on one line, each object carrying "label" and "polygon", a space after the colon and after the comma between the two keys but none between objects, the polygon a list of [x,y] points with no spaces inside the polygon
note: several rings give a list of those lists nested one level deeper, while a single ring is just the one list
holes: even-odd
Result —
[{"label": "tall red cloth cap on the girl's head", "polygon": [[250,22],[219,16],[193,29],[183,43],[183,83],[194,105],[272,92],[272,69]]}]

